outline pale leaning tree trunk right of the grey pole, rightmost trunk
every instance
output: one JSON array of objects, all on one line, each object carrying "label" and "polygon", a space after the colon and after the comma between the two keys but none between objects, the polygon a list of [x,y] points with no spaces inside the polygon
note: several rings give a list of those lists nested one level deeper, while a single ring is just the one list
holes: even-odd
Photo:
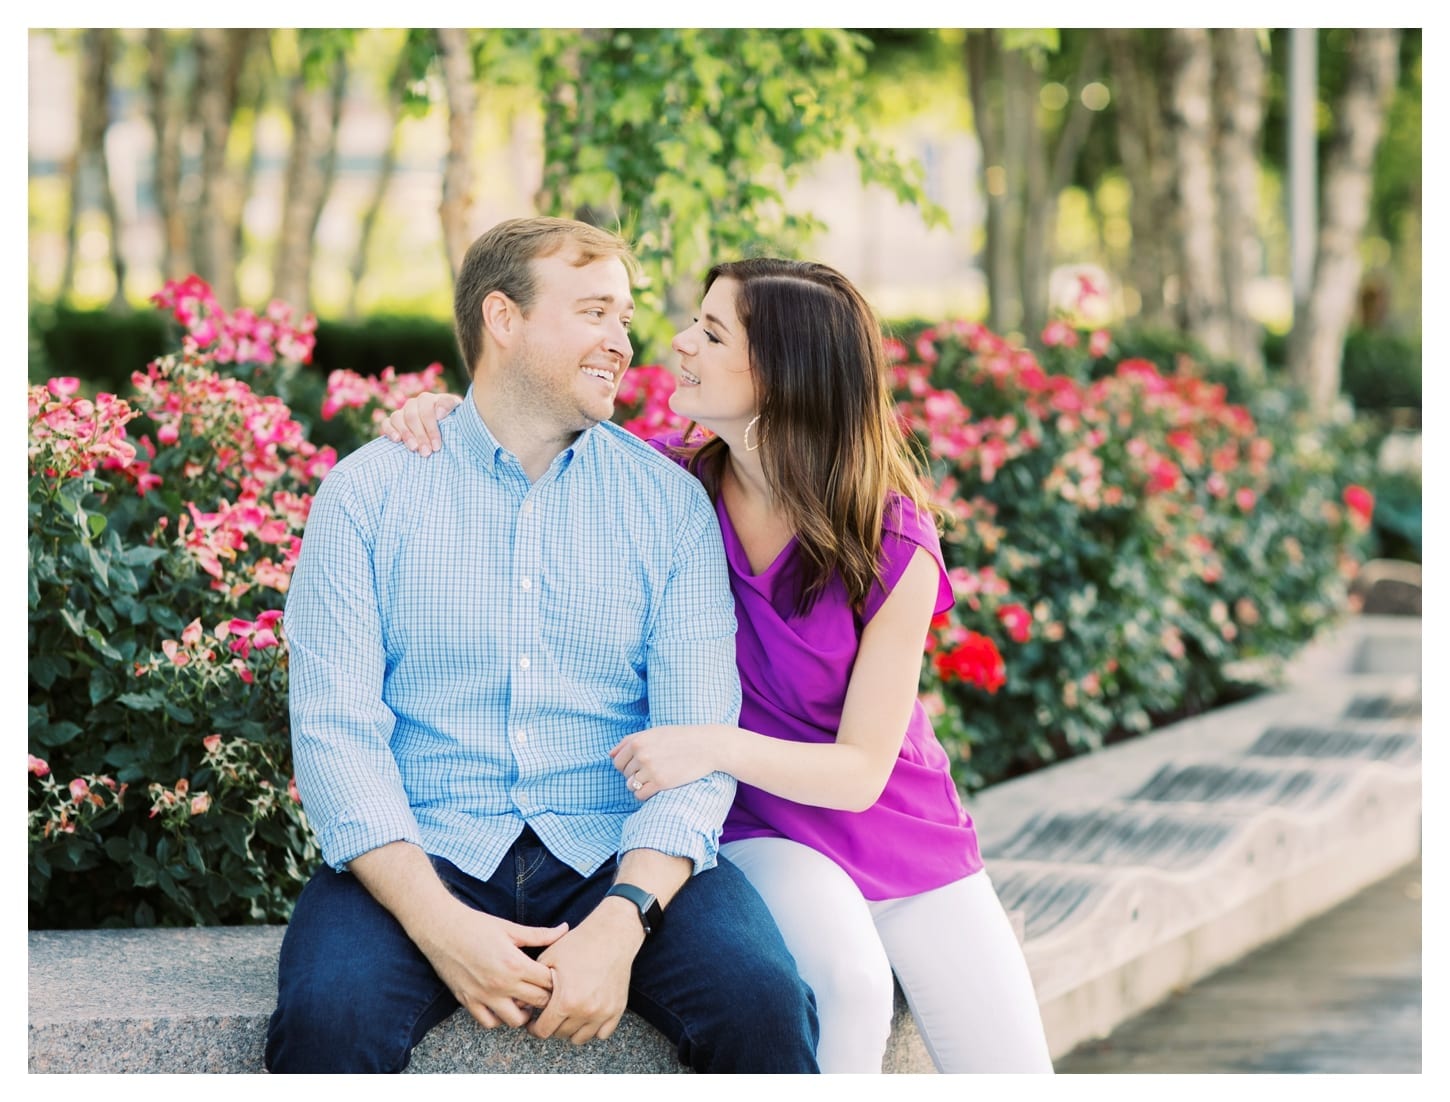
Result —
[{"label": "pale leaning tree trunk right of the grey pole, rightmost trunk", "polygon": [[1353,33],[1344,88],[1334,109],[1334,136],[1324,155],[1314,283],[1289,344],[1290,374],[1321,418],[1340,392],[1344,335],[1359,294],[1359,246],[1369,218],[1375,149],[1399,74],[1398,30]]}]

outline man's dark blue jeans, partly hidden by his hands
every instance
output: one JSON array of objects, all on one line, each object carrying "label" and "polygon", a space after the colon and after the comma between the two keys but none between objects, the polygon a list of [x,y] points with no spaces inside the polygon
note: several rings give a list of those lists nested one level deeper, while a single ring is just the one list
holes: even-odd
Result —
[{"label": "man's dark blue jeans, partly hidden by his hands", "polygon": [[[525,925],[580,921],[613,883],[581,877],[525,829],[487,880],[434,869],[468,906]],[[283,937],[270,1072],[402,1072],[458,1002],[351,873],[320,869]],[[696,1072],[816,1072],[815,996],[755,889],[724,858],[674,896],[635,957],[629,1009]],[[499,1027],[509,1028],[509,1027]]]}]

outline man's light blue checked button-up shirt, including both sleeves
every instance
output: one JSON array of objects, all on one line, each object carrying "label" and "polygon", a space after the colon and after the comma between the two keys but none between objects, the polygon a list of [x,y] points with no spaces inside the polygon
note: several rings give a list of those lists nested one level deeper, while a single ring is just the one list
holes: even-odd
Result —
[{"label": "man's light blue checked button-up shirt, including both sleeves", "polygon": [[609,750],[734,724],[715,512],[612,423],[529,484],[473,403],[419,457],[377,439],[316,494],[283,618],[297,786],[335,869],[392,841],[486,879],[528,822],[581,874],[616,853],[715,863],[722,773],[638,803]]}]

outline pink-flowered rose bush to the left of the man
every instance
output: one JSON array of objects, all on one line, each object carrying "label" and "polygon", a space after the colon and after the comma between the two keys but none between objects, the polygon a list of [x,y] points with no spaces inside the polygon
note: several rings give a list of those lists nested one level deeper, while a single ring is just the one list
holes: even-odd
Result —
[{"label": "pink-flowered rose bush to the left of the man", "polygon": [[310,318],[155,299],[183,348],[126,399],[29,396],[29,903],[36,927],[281,921],[316,863],[281,605],[336,461],[283,387]]}]

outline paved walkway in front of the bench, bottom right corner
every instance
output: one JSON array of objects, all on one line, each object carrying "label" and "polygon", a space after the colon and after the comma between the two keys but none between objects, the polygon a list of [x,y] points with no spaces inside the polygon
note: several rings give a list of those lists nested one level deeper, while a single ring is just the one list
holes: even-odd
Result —
[{"label": "paved walkway in front of the bench, bottom right corner", "polygon": [[1417,860],[1106,1040],[1079,1045],[1056,1067],[1066,1074],[1420,1073],[1421,1022]]}]

